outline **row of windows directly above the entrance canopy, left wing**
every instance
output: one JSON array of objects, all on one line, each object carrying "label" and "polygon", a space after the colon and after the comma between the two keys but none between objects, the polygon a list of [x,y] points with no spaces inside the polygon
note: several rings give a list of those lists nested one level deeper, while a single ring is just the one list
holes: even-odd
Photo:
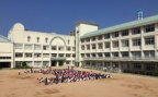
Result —
[{"label": "row of windows directly above the entrance canopy, left wing", "polygon": [[[65,57],[65,54],[66,54],[66,57],[67,58],[70,58],[70,57],[72,57],[72,58],[75,58],[76,57],[76,54],[75,53],[52,53],[50,56],[52,57]],[[16,52],[15,53],[15,58],[22,58],[22,57],[25,57],[25,58],[32,58],[33,57],[33,53],[21,53],[21,52]],[[41,58],[42,57],[42,53],[34,53],[34,58]],[[43,53],[43,58],[49,58],[49,53]]]}]

